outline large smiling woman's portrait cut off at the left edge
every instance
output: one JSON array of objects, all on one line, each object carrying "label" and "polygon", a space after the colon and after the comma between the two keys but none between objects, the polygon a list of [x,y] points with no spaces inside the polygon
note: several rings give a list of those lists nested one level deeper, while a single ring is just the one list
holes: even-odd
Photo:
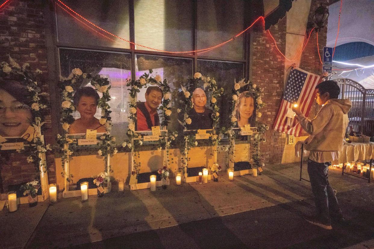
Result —
[{"label": "large smiling woman's portrait cut off at the left edge", "polygon": [[0,81],[0,136],[21,137],[32,122],[28,91],[18,81]]}]

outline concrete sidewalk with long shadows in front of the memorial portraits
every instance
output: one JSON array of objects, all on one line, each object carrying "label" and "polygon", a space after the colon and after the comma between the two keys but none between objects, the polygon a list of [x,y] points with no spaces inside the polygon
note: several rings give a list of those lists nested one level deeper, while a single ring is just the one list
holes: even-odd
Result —
[{"label": "concrete sidewalk with long shadows in front of the memorial portraits", "polygon": [[[283,220],[287,220],[287,223],[291,222],[291,227],[303,227],[305,222],[301,222],[300,214],[310,213],[314,205],[309,183],[298,180],[299,170],[298,164],[273,165],[268,166],[258,177],[245,175],[235,177],[234,181],[227,181],[226,172],[222,172],[218,182],[171,185],[166,190],[158,188],[154,193],[151,193],[149,189],[125,190],[123,193],[111,192],[105,194],[104,197],[90,196],[89,201],[84,203],[78,197],[59,199],[54,205],[49,205],[43,217],[39,214],[40,222],[35,218],[35,221],[27,224],[24,224],[22,218],[29,215],[28,210],[42,210],[46,205],[38,205],[31,209],[22,207],[16,212],[18,217],[16,221],[15,215],[1,211],[0,217],[6,220],[5,224],[8,220],[12,220],[13,225],[4,228],[8,231],[8,237],[2,238],[0,245],[5,245],[6,248],[24,246],[28,248],[61,248],[81,244],[87,246],[90,245],[87,243],[98,242],[96,246],[100,246],[99,241],[104,243],[111,238],[124,236],[136,238],[137,234],[147,234],[152,230],[178,231],[181,224],[184,224],[185,227],[188,227],[188,224],[194,224],[193,222],[197,222],[196,225],[201,225],[212,219],[221,220],[223,218],[219,217],[223,216],[227,216],[226,220],[234,216],[240,217],[239,220],[246,219],[249,222],[246,224],[247,227],[258,223],[266,227],[272,226],[277,219],[270,214],[261,214],[261,210],[265,211],[273,207],[272,210],[277,213],[278,208],[292,205],[296,205],[297,212],[292,212],[289,220],[287,220],[287,216],[290,214],[283,214]],[[305,174],[303,177],[307,178],[306,170],[303,173]],[[349,198],[353,194],[358,200],[356,206],[342,207],[344,213],[361,214],[361,212],[370,211],[373,214],[374,198],[371,196],[372,199],[368,200],[367,193],[370,192],[370,189],[373,190],[374,184],[368,184],[367,181],[355,177],[341,176],[341,172],[338,170],[329,171],[329,180],[332,186],[337,189],[338,197]],[[362,189],[366,189],[366,191],[362,192]],[[344,192],[346,192],[345,195]],[[303,209],[303,206],[306,208]],[[43,212],[40,213],[43,214]],[[261,216],[258,216],[259,214]],[[18,232],[15,233],[17,230],[15,224],[17,223],[24,225],[28,233],[24,232],[22,235]],[[201,229],[203,228],[207,227],[201,225]],[[196,228],[196,230],[199,229]],[[228,234],[240,233],[239,230],[235,231],[231,228],[229,230]],[[226,229],[227,232],[229,230]],[[13,235],[10,231],[13,231]],[[261,230],[255,231],[261,232]],[[265,229],[263,232],[266,234]],[[295,228],[292,231],[292,233],[298,232],[300,232],[300,228]],[[204,233],[204,230],[200,230],[200,233]],[[257,233],[254,234],[255,237],[260,236]],[[24,240],[18,241],[16,244],[12,243],[20,236],[28,239],[27,244]],[[192,235],[190,234],[190,236]],[[168,247],[163,243],[159,245]],[[193,248],[196,246],[206,247],[203,245],[197,243],[195,246],[191,246]],[[248,246],[244,242],[243,245]],[[134,248],[141,247],[140,245],[134,246]],[[148,245],[148,248],[150,247],[152,246]]]}]

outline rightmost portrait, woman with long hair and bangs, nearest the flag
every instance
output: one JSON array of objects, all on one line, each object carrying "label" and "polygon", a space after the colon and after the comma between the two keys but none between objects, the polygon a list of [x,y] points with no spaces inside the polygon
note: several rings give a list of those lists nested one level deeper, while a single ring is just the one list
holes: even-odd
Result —
[{"label": "rightmost portrait, woman with long hair and bangs, nearest the flag", "polygon": [[253,115],[255,110],[255,100],[249,91],[243,91],[239,94],[235,103],[235,117],[237,127],[241,128],[247,124],[255,125],[256,118]]}]

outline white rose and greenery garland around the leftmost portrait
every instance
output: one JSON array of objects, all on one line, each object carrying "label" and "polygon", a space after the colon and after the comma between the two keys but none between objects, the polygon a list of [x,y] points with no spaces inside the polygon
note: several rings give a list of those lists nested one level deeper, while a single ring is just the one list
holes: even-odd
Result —
[{"label": "white rose and greenery garland around the leftmost portrait", "polygon": [[40,153],[45,153],[47,150],[52,149],[50,144],[45,146],[44,141],[40,139],[42,125],[45,124],[44,115],[48,109],[46,98],[49,96],[49,94],[42,92],[41,85],[38,82],[39,75],[42,74],[42,71],[39,69],[35,71],[31,70],[29,63],[24,63],[20,66],[11,57],[9,57],[9,64],[7,62],[1,62],[0,68],[0,80],[16,80],[27,89],[27,96],[24,101],[29,106],[33,117],[30,125],[37,133],[37,136],[28,142],[28,146],[17,149],[16,151],[19,153],[26,152],[28,154],[27,162],[33,163],[37,172],[41,170],[46,172],[46,165],[40,164],[42,161]]}]

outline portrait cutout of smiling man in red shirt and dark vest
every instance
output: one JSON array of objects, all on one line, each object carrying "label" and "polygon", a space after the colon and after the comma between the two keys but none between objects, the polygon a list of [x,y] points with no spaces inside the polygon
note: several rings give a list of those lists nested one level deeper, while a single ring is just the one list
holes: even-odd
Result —
[{"label": "portrait cutout of smiling man in red shirt and dark vest", "polygon": [[160,125],[160,116],[157,111],[163,98],[162,90],[158,86],[148,86],[145,89],[144,99],[141,98],[141,94],[138,94],[143,101],[137,103],[137,131],[150,131],[152,126]]}]

